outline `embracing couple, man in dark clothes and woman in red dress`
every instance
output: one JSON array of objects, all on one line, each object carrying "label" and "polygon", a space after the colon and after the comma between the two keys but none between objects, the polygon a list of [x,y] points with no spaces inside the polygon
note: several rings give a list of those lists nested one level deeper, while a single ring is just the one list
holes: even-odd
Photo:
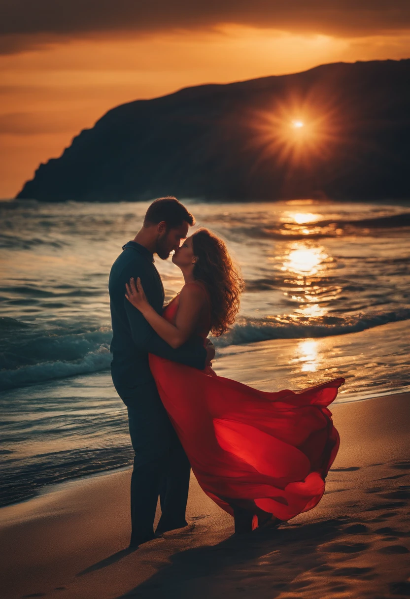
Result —
[{"label": "embracing couple, man in dark clothes and woman in red dress", "polygon": [[[187,237],[194,223],[176,198],[157,199],[111,268],[111,374],[135,452],[130,547],[186,527],[191,468],[247,533],[315,507],[339,447],[327,406],[343,379],[274,393],[213,372],[207,337],[233,325],[243,282],[224,241]],[[173,250],[185,285],[164,309],[153,255]]]}]

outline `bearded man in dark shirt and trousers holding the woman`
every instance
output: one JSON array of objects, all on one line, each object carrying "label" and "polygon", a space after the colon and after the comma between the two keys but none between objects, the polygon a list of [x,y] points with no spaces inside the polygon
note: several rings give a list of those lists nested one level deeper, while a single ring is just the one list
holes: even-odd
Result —
[{"label": "bearded man in dark shirt and trousers holding the woman", "polygon": [[[111,375],[128,408],[129,434],[135,452],[131,477],[131,542],[137,547],[154,536],[185,527],[190,466],[171,426],[149,370],[148,354],[203,370],[213,359],[212,344],[198,337],[172,349],[125,298],[125,283],[140,277],[146,296],[161,314],[164,288],[153,254],[166,260],[186,238],[194,217],[173,197],[159,198],[147,210],[143,227],[123,246],[111,268],[110,291],[113,340]],[[161,519],[153,533],[158,495]]]}]

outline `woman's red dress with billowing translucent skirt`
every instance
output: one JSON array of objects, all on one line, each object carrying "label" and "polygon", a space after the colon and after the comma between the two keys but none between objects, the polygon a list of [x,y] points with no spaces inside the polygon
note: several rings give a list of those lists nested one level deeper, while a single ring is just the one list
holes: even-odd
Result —
[{"label": "woman's red dress with billowing translucent skirt", "polygon": [[[200,283],[203,291],[207,291]],[[209,298],[207,296],[209,301]],[[175,323],[179,296],[163,316]],[[206,339],[209,318],[198,331]],[[233,515],[238,505],[280,520],[315,507],[339,449],[327,406],[344,379],[265,392],[150,354],[162,403],[203,491]],[[260,510],[258,510],[258,508]]]}]

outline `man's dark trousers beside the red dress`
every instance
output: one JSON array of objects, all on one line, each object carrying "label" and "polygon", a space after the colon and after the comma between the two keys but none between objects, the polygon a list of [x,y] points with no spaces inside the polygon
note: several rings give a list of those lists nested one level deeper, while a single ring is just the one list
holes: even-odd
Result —
[{"label": "man's dark trousers beside the red dress", "polygon": [[[148,391],[148,389],[147,389]],[[162,406],[158,392],[149,389],[129,401],[128,423],[135,452],[131,477],[131,544],[139,544],[153,536],[158,495],[161,519],[157,532],[186,526],[191,467]]]}]

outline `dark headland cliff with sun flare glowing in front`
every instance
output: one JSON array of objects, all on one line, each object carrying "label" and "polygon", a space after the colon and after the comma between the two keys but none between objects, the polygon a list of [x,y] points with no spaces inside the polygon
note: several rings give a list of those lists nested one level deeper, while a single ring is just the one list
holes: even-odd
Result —
[{"label": "dark headland cliff with sun flare glowing in front", "polygon": [[408,198],[409,158],[410,59],[336,63],[113,108],[17,198]]}]

